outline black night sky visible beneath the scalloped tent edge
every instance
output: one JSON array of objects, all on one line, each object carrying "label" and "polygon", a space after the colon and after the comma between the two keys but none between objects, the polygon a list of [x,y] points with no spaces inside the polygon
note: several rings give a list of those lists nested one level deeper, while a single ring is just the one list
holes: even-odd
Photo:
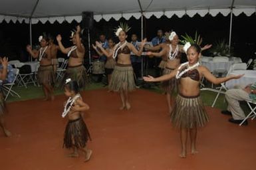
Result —
[{"label": "black night sky visible beneath the scalloped tent edge", "polygon": [[[216,41],[229,39],[229,22],[230,15],[224,17],[219,14],[216,17],[211,15],[205,15],[200,17],[195,15],[194,17],[188,17],[185,15],[182,18],[174,15],[170,19],[166,16],[156,19],[152,16],[150,19],[144,19],[144,37],[150,41],[156,36],[156,31],[162,29],[163,31],[174,30],[178,35],[195,35],[195,31],[203,37],[203,44],[214,44]],[[91,41],[94,42],[98,39],[100,33],[104,33],[106,37],[114,37],[114,28],[118,27],[120,22],[126,22],[132,29],[128,33],[128,40],[130,41],[130,35],[136,33],[140,39],[140,19],[130,18],[128,21],[120,19],[115,21],[104,21],[103,19],[98,23],[94,22],[93,29],[91,31]],[[234,49],[234,56],[242,58],[243,62],[247,62],[249,58],[255,58],[254,52],[256,52],[256,14],[254,13],[250,17],[245,14],[241,14],[238,17],[233,16],[233,31],[232,31],[232,46]],[[57,23],[51,24],[49,22],[37,25],[32,25],[33,31],[33,44],[38,43],[38,37],[43,32],[51,33],[54,37],[58,34],[63,36],[64,46],[70,46],[69,41],[70,31],[78,25],[76,21],[72,23]],[[180,37],[180,39],[182,39]],[[84,37],[86,46],[87,38]],[[26,52],[26,45],[29,44],[29,25],[25,23],[0,23],[0,55],[8,56],[9,60],[19,59],[21,61],[29,60],[29,55]],[[93,52],[93,50],[92,50]],[[210,55],[209,52],[205,52],[206,55]],[[88,55],[88,54],[86,54]],[[63,54],[59,53],[59,56],[63,57]]]}]

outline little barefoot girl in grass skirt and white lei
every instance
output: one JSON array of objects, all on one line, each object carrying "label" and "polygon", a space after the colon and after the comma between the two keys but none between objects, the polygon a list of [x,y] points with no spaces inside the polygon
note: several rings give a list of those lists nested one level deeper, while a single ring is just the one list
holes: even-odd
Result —
[{"label": "little barefoot girl in grass skirt and white lei", "polygon": [[68,116],[68,124],[64,132],[63,147],[72,148],[73,153],[69,157],[78,157],[78,149],[84,153],[84,161],[88,161],[92,155],[92,150],[86,147],[90,133],[83,120],[81,112],[89,110],[88,104],[82,101],[82,97],[78,93],[78,83],[71,81],[70,78],[66,80],[64,86],[64,94],[68,96],[68,100],[64,104],[64,116]]}]

